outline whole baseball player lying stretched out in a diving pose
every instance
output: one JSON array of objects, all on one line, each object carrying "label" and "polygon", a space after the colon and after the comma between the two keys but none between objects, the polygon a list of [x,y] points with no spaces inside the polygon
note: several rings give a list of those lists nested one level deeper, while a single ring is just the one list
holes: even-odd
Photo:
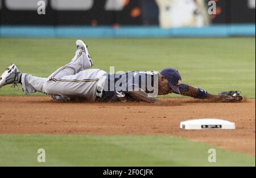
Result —
[{"label": "whole baseball player lying stretched out in a diving pose", "polygon": [[15,64],[10,65],[0,77],[0,88],[8,84],[22,84],[25,94],[42,92],[62,101],[144,101],[161,103],[156,96],[169,93],[181,94],[212,101],[241,101],[238,91],[210,94],[204,89],[182,84],[176,69],[162,72],[132,71],[111,74],[92,69],[93,61],[88,48],[81,40],[70,63],[53,72],[48,78],[21,73]]}]

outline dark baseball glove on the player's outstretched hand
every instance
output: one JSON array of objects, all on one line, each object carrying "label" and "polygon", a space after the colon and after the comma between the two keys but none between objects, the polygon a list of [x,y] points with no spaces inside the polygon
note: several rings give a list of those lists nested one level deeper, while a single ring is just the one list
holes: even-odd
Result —
[{"label": "dark baseball glove on the player's outstretched hand", "polygon": [[221,102],[240,102],[243,100],[243,97],[240,95],[240,91],[229,91],[229,92],[220,92],[218,95],[220,96]]}]

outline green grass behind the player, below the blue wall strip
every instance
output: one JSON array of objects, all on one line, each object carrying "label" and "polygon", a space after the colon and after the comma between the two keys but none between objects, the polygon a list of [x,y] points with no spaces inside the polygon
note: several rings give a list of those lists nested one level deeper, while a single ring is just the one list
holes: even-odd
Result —
[{"label": "green grass behind the player, below the blue wall strip", "polygon": [[[0,69],[15,63],[20,71],[47,77],[69,63],[76,39],[0,39]],[[241,90],[255,98],[255,38],[83,39],[94,68],[116,71],[180,71],[183,82],[212,93]],[[1,95],[22,95],[10,86]],[[40,94],[39,94],[40,95]],[[169,95],[177,97],[176,95]]]}]

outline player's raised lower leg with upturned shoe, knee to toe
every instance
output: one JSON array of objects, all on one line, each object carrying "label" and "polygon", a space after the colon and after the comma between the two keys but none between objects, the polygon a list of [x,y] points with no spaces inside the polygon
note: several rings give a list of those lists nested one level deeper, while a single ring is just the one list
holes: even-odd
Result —
[{"label": "player's raised lower leg with upturned shoe, knee to toe", "polygon": [[87,46],[81,40],[76,41],[77,51],[70,63],[57,69],[48,78],[61,78],[70,76],[93,66],[92,57],[90,57]]}]

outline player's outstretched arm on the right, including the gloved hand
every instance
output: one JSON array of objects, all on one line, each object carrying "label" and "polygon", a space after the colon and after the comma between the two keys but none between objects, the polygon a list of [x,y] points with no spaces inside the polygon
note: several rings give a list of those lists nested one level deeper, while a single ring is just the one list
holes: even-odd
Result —
[{"label": "player's outstretched arm on the right, including the gloved hand", "polygon": [[179,89],[180,89],[181,95],[198,98],[198,99],[207,99],[211,101],[222,101],[222,102],[234,102],[234,101],[242,100],[242,96],[240,96],[240,92],[237,92],[237,91],[222,92],[220,94],[210,94],[204,89],[196,88],[194,86],[190,86],[187,84],[181,84],[179,86]]}]

